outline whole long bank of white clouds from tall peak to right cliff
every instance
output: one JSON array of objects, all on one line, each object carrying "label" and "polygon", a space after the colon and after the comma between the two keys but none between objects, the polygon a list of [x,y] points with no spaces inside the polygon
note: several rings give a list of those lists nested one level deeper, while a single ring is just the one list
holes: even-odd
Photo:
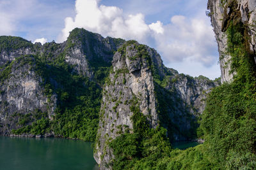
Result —
[{"label": "whole long bank of white clouds from tall peak to right cliff", "polygon": [[155,44],[166,64],[189,59],[209,67],[218,60],[214,32],[209,18],[205,16],[187,18],[175,15],[165,25],[159,20],[146,24],[142,13],[125,15],[122,9],[99,5],[97,0],[76,0],[76,17],[65,19],[65,28],[58,41],[65,41],[69,32],[76,27],[103,36]]}]

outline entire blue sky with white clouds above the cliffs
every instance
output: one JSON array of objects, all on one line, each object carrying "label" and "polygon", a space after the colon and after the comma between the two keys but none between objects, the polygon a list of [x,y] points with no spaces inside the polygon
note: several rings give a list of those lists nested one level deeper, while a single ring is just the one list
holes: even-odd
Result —
[{"label": "entire blue sky with white clouds above the cliffs", "polygon": [[220,76],[207,0],[0,0],[0,36],[33,43],[65,41],[76,27],[135,39],[155,48],[166,67],[191,76]]}]

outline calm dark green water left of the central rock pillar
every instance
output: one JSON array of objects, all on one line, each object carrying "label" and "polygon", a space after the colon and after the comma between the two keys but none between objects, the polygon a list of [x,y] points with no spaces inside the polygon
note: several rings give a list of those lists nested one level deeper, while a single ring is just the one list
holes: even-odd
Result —
[{"label": "calm dark green water left of the central rock pillar", "polygon": [[61,138],[0,137],[2,170],[97,169],[91,143]]}]

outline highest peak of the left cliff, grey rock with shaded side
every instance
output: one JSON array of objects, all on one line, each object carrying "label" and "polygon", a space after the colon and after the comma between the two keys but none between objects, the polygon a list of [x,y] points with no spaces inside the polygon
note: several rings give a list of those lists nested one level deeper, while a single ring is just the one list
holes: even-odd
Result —
[{"label": "highest peak of the left cliff, grey rock with shaded side", "polygon": [[99,66],[111,66],[113,53],[124,43],[120,38],[103,38],[100,34],[74,29],[67,39],[65,60],[75,66],[79,74],[91,79]]}]

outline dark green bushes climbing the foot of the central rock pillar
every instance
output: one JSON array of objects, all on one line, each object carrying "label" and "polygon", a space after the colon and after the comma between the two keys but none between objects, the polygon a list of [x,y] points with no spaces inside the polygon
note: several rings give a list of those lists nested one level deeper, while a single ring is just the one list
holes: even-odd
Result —
[{"label": "dark green bushes climbing the foot of the central rock pillar", "polygon": [[139,101],[134,96],[131,101],[133,133],[125,133],[111,141],[115,160],[108,166],[113,169],[150,169],[157,159],[167,157],[171,148],[166,138],[166,129],[150,128],[147,117],[140,112]]}]

